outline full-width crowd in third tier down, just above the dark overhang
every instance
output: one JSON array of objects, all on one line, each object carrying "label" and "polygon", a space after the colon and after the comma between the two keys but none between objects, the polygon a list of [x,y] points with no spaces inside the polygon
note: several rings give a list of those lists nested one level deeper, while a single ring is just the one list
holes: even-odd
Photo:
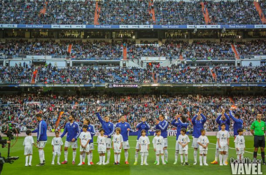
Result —
[{"label": "full-width crowd in third tier down, just above the dark overhang", "polygon": [[[25,64],[25,62],[24,62]],[[35,83],[265,83],[265,66],[38,67]],[[0,66],[0,83],[31,83],[34,66]]]}]

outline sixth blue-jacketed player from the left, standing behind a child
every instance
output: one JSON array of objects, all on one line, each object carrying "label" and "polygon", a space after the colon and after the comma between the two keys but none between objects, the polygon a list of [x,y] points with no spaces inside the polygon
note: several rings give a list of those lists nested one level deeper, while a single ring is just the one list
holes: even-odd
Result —
[{"label": "sixth blue-jacketed player from the left, standing behind a child", "polygon": [[141,131],[142,130],[145,130],[146,133],[148,133],[148,130],[150,130],[151,127],[146,122],[146,117],[145,116],[142,116],[141,123],[139,123],[136,126],[136,128],[138,130],[138,136],[137,136],[137,145],[136,145],[136,153],[135,153],[135,162],[134,162],[134,165],[137,165],[137,163],[138,163],[138,157],[139,157],[139,137],[141,137]]}]

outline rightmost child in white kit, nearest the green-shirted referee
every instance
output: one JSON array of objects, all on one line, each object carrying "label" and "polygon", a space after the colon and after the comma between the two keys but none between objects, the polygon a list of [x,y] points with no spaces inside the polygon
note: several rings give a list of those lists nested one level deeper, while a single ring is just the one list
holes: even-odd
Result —
[{"label": "rightmost child in white kit, nearest the green-shirted referee", "polygon": [[245,138],[243,136],[243,130],[238,129],[237,130],[238,135],[235,138],[235,149],[237,151],[237,160],[244,159],[244,150],[245,150]]}]

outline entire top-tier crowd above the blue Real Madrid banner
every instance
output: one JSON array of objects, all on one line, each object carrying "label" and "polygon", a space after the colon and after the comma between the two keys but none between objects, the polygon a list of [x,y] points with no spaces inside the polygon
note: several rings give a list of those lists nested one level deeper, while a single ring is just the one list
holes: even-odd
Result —
[{"label": "entire top-tier crowd above the blue Real Madrid banner", "polygon": [[[201,1],[2,1],[1,24],[93,25],[204,25]],[[253,0],[204,1],[213,24],[261,24]],[[263,7],[263,3],[262,3]],[[155,10],[155,22],[153,13]]]}]

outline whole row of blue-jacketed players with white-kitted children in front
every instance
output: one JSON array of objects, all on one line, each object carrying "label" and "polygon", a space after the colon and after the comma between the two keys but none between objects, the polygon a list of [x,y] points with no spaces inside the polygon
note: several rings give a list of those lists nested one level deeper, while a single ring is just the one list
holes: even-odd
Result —
[{"label": "whole row of blue-jacketed players with white-kitted children in front", "polygon": [[[120,164],[120,153],[121,149],[123,148],[125,151],[125,164],[129,164],[128,162],[128,149],[130,148],[130,144],[128,142],[128,132],[132,132],[130,124],[125,122],[125,116],[120,118],[120,123],[117,123],[116,126],[113,125],[109,121],[109,116],[104,116],[104,120],[99,114],[101,108],[97,109],[97,118],[99,119],[100,123],[102,124],[102,129],[99,130],[100,135],[97,139],[98,144],[98,152],[100,161],[97,163],[98,165],[106,165],[110,162],[110,149],[114,149],[115,153],[115,163],[116,165]],[[37,132],[37,144],[39,148],[39,157],[40,157],[40,164],[38,166],[43,166],[45,163],[44,159],[44,151],[43,148],[47,141],[47,136],[44,130],[47,130],[45,126],[45,121],[41,119],[41,115],[36,116],[37,120],[39,121],[39,127],[33,131]],[[216,119],[219,125],[219,132],[217,135],[218,142],[216,144],[216,156],[214,162],[211,164],[218,164],[218,157],[221,160],[220,165],[228,165],[228,146],[229,146],[229,126],[230,126],[230,118],[235,121],[234,124],[234,135],[235,137],[239,133],[243,133],[243,130],[239,130],[242,128],[243,121],[240,118],[239,114],[233,115],[232,109],[230,109],[230,117],[225,113],[223,110],[222,114],[218,116]],[[66,123],[64,128],[63,134],[59,137],[59,132],[56,132],[56,137],[52,139],[52,148],[53,148],[53,158],[52,158],[52,165],[55,164],[55,155],[57,155],[57,164],[59,165],[59,156],[61,155],[62,151],[62,137],[67,133],[66,142],[64,144],[64,162],[62,164],[68,163],[68,148],[69,146],[73,149],[73,160],[72,164],[75,164],[76,160],[76,148],[78,148],[78,137],[80,142],[80,164],[83,165],[85,162],[85,154],[87,154],[88,165],[93,165],[92,162],[92,150],[94,150],[93,145],[93,136],[95,134],[93,125],[90,125],[90,120],[87,118],[83,121],[83,128],[80,130],[78,123],[74,122],[75,116],[69,116],[69,123]],[[199,110],[197,115],[193,117],[193,148],[194,148],[194,164],[197,165],[197,149],[200,148],[200,165],[207,165],[206,162],[206,155],[207,155],[207,146],[209,141],[205,136],[205,132],[203,130],[204,123],[206,122],[206,117],[202,114],[202,111]],[[156,152],[156,160],[155,164],[159,165],[159,156],[162,157],[162,164],[167,164],[168,161],[168,152],[167,152],[167,127],[169,123],[165,120],[164,115],[160,115],[158,120],[156,121],[155,129],[156,129],[156,137],[153,139],[153,146]],[[188,165],[188,136],[186,136],[186,128],[188,127],[188,123],[186,122],[186,117],[177,115],[176,118],[172,121],[172,125],[176,126],[176,153],[175,153],[175,162],[177,164],[178,155],[181,155],[181,162],[183,162],[183,154],[185,155],[185,163],[183,165]],[[223,130],[224,127],[224,130]],[[147,165],[146,158],[148,156],[148,149],[150,141],[146,134],[148,130],[150,130],[150,126],[146,123],[146,118],[141,118],[141,123],[137,125],[137,129],[139,134],[137,136],[137,146],[135,152],[135,162],[134,165],[137,165],[137,160],[139,157],[139,153],[141,153],[141,165]],[[114,132],[116,131],[116,134]],[[219,134],[221,132],[221,134]],[[111,140],[111,136],[113,135],[113,142]],[[239,134],[241,136],[241,134]],[[27,138],[27,137],[26,137]],[[32,151],[26,147],[32,146],[33,139],[27,139],[31,141],[27,141],[25,138],[25,155],[31,156]],[[162,139],[163,138],[163,139]],[[203,138],[203,139],[202,139]],[[242,139],[235,139],[236,141],[244,141],[244,137]],[[237,142],[238,143],[238,142]],[[242,143],[243,144],[243,143]],[[239,143],[238,143],[239,145]],[[241,151],[237,152],[238,158],[243,157],[243,146],[241,146]],[[240,149],[240,148],[239,148]],[[31,148],[32,150],[32,148]],[[107,160],[105,162],[105,153],[107,155]],[[202,155],[204,157],[204,163],[202,164]],[[31,161],[31,157],[29,157]],[[222,162],[223,159],[223,162]],[[27,157],[26,157],[27,161]],[[26,162],[26,166],[31,165]]]}]

